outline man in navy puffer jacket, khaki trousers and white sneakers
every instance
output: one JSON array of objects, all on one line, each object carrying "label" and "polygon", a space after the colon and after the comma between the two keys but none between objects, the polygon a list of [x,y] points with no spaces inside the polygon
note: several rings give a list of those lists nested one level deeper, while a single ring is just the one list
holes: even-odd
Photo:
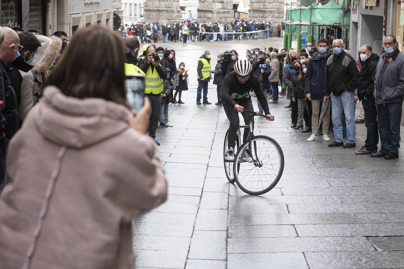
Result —
[{"label": "man in navy puffer jacket, khaki trousers and white sneakers", "polygon": [[[324,99],[324,84],[326,81],[327,60],[331,53],[327,51],[328,40],[320,38],[318,40],[318,52],[314,53],[309,60],[306,71],[305,92],[306,98],[311,101],[313,114],[311,115],[311,136],[307,142],[316,140],[318,131],[318,114],[320,113],[320,104]],[[327,136],[328,126],[330,124],[330,107],[323,120],[323,140],[330,141]]]}]

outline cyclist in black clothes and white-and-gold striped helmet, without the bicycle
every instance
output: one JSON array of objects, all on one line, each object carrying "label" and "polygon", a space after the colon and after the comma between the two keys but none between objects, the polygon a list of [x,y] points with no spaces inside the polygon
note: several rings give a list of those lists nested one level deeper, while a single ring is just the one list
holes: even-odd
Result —
[{"label": "cyclist in black clothes and white-and-gold striped helmet, without the bicycle", "polygon": [[[258,101],[260,102],[265,115],[269,121],[273,121],[275,117],[269,113],[267,99],[261,89],[261,83],[256,75],[252,73],[252,66],[246,59],[240,59],[234,65],[234,71],[225,75],[221,88],[221,98],[223,108],[230,121],[228,150],[226,153],[227,161],[234,161],[234,147],[236,146],[237,129],[240,125],[238,113],[240,112],[244,118],[246,125],[250,124],[249,113],[243,112],[244,108],[249,111],[254,111],[252,106],[250,90],[254,90]],[[243,142],[246,141],[250,128],[244,128]],[[252,163],[250,151],[246,150],[244,160]]]}]

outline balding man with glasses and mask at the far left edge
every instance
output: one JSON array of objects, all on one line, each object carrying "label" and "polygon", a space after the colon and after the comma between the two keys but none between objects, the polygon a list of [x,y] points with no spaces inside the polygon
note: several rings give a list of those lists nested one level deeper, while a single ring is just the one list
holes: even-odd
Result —
[{"label": "balding man with glasses and mask at the far left edge", "polygon": [[23,47],[20,46],[20,39],[15,31],[8,27],[2,27],[2,29],[4,32],[4,41],[0,46],[0,70],[3,73],[3,84],[0,86],[4,89],[5,107],[1,113],[6,120],[4,123],[4,133],[8,142],[18,129],[18,110],[15,90],[6,70],[7,64],[12,63],[21,55],[19,51]]}]

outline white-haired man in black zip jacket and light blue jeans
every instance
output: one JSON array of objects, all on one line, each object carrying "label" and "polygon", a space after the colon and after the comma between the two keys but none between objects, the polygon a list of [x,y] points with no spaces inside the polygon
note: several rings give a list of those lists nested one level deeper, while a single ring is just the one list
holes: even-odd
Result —
[{"label": "white-haired man in black zip jacket and light blue jeans", "polygon": [[[343,146],[354,148],[355,144],[355,89],[358,81],[359,68],[356,60],[344,51],[342,39],[332,42],[334,55],[327,60],[326,82],[324,86],[324,101],[332,96],[332,125],[334,126],[335,141],[329,147]],[[347,124],[347,143],[343,143],[342,113]]]}]

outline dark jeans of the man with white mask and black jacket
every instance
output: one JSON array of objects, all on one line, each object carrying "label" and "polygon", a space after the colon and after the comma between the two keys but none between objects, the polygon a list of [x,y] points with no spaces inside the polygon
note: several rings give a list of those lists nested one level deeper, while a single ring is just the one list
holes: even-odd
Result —
[{"label": "dark jeans of the man with white mask and black jacket", "polygon": [[377,110],[375,98],[362,100],[363,109],[365,111],[365,125],[368,129],[365,140],[365,148],[369,151],[377,151],[377,143],[379,143],[379,129],[377,129]]}]

